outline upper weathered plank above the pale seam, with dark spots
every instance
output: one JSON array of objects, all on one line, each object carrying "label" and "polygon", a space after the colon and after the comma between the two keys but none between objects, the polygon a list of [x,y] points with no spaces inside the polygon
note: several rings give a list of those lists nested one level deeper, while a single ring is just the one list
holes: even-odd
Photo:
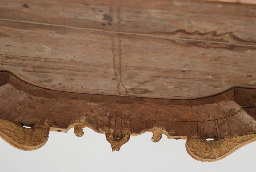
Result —
[{"label": "upper weathered plank above the pale seam, with dark spots", "polygon": [[[23,3],[21,0],[4,0],[0,4],[0,18],[176,38],[211,39],[210,34],[200,38],[195,33],[198,31],[230,33],[241,40],[254,41],[254,44],[256,40],[256,33],[253,32],[256,17],[254,5],[191,0],[65,0],[61,3],[58,0],[35,0],[26,8]],[[177,30],[184,30],[185,33],[180,34]],[[223,41],[232,40],[228,35]]]}]

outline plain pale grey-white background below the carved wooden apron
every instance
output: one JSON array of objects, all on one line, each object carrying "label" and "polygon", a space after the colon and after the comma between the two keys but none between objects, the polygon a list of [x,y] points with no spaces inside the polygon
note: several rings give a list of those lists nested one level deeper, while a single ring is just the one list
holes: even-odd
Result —
[{"label": "plain pale grey-white background below the carved wooden apron", "polygon": [[217,162],[200,162],[185,149],[186,140],[154,143],[152,133],[131,137],[120,151],[111,151],[105,135],[84,128],[84,136],[50,132],[40,149],[22,151],[0,139],[0,172],[254,172],[256,142]]}]

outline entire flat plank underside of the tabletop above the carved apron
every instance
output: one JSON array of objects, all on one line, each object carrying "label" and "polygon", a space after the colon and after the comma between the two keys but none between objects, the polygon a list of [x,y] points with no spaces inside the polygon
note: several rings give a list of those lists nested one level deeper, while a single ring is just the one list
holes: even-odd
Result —
[{"label": "entire flat plank underside of the tabletop above the carved apron", "polygon": [[0,70],[68,92],[191,99],[256,88],[256,6],[4,0]]}]

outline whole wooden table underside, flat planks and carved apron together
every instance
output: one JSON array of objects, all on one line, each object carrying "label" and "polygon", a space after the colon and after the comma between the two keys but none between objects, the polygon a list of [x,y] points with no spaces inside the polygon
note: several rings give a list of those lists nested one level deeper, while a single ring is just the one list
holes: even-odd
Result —
[{"label": "whole wooden table underside, flat planks and carved apron together", "polygon": [[114,151],[149,131],[201,161],[254,141],[256,5],[239,2],[1,1],[1,137],[90,127]]}]

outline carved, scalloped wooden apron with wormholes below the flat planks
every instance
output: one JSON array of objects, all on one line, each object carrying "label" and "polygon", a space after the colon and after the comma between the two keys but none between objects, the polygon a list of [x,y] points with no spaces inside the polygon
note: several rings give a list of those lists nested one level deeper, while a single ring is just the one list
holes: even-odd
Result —
[{"label": "carved, scalloped wooden apron with wormholes below the flat planks", "polygon": [[0,136],[22,150],[43,146],[49,131],[74,127],[81,137],[89,127],[106,134],[112,151],[152,132],[154,142],[162,134],[187,139],[189,155],[216,161],[256,138],[256,89],[190,100],[95,95],[40,88],[8,72],[0,73],[0,85]]}]

